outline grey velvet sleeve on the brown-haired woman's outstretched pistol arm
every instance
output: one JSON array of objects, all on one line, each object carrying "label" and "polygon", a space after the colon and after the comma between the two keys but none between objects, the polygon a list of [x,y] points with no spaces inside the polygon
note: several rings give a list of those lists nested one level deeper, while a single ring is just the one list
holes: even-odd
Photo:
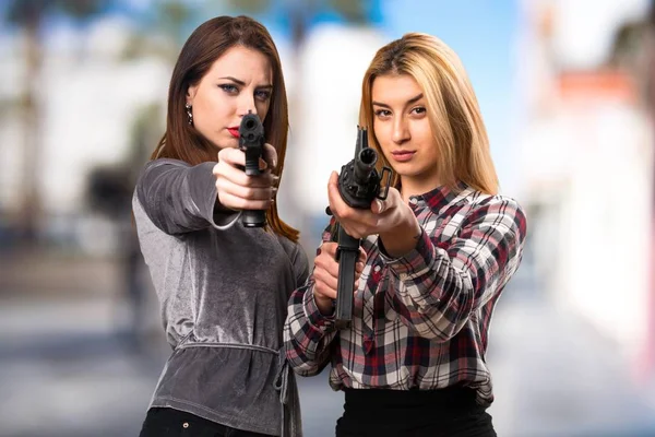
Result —
[{"label": "grey velvet sleeve on the brown-haired woman's outstretched pistol arm", "polygon": [[174,235],[210,226],[222,228],[236,220],[238,212],[218,205],[214,165],[191,166],[160,158],[144,166],[136,181],[136,197],[155,226]]}]

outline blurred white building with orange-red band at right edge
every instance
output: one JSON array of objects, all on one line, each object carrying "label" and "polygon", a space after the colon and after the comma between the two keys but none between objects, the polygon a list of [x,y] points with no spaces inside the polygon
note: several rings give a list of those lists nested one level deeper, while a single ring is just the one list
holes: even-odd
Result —
[{"label": "blurred white building with orange-red band at right edge", "polygon": [[645,2],[546,0],[523,8],[522,197],[541,290],[609,339],[636,376],[655,340],[654,142],[643,50],[627,64],[617,61],[616,44]]}]

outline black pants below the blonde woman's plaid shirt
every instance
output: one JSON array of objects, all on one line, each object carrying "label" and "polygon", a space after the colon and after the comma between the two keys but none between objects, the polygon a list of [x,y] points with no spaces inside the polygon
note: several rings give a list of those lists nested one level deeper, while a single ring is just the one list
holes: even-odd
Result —
[{"label": "black pants below the blonde woman's plaid shirt", "polygon": [[497,437],[491,416],[466,388],[346,389],[336,437]]}]

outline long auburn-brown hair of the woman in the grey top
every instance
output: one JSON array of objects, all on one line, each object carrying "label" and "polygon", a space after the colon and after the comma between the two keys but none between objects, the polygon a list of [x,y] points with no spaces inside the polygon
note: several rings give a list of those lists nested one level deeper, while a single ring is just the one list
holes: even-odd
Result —
[{"label": "long auburn-brown hair of the woman in the grey top", "polygon": [[[240,45],[263,54],[273,69],[273,91],[269,115],[263,121],[266,142],[277,152],[277,166],[273,174],[279,176],[289,127],[286,86],[282,62],[273,38],[266,28],[248,16],[217,16],[201,24],[182,46],[172,70],[168,87],[166,132],[151,155],[151,160],[172,158],[191,165],[216,161],[216,149],[187,122],[186,95],[207,73],[214,61],[229,48]],[[277,214],[276,203],[266,211],[267,226],[291,241],[298,241],[299,232],[284,223]]]}]

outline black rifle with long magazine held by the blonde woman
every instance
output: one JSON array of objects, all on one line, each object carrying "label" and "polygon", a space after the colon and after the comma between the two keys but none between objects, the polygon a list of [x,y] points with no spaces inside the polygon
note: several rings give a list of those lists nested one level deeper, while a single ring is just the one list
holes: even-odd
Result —
[{"label": "black rifle with long magazine held by the blonde woman", "polygon": [[[383,167],[378,174],[376,163],[378,152],[368,146],[366,128],[357,127],[355,158],[344,165],[338,175],[338,192],[350,208],[369,209],[374,199],[384,200],[389,193],[391,168]],[[381,180],[386,173],[384,191],[380,192]],[[331,214],[327,208],[327,213]],[[349,236],[340,225],[332,229],[332,240],[338,243],[336,260],[338,261],[338,280],[335,309],[337,329],[349,328],[353,321],[353,285],[355,284],[355,264],[359,257],[359,238]]]}]

